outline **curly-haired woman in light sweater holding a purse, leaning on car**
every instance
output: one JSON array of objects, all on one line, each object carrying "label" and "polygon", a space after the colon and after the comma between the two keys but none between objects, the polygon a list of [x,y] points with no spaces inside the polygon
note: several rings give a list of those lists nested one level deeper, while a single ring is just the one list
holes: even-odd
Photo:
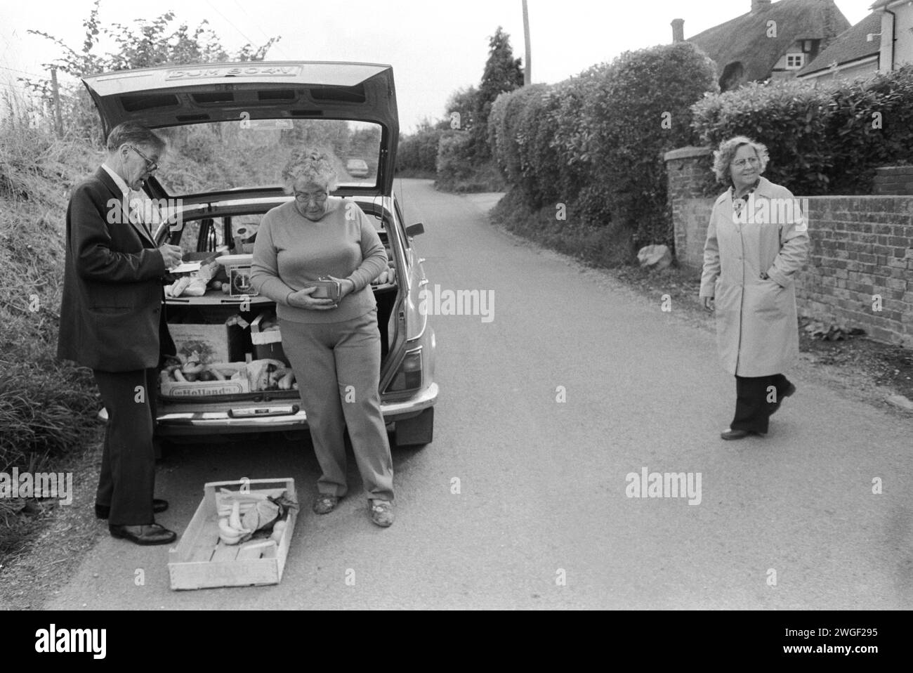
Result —
[{"label": "curly-haired woman in light sweater holding a purse, leaning on car", "polygon": [[[346,494],[342,437],[348,426],[371,519],[386,527],[394,521],[394,473],[378,393],[381,335],[370,285],[387,268],[386,252],[362,209],[330,196],[336,174],[327,154],[305,152],[284,177],[295,200],[263,217],[251,282],[276,302],[282,347],[308,415],[322,472],[313,510],[326,514]],[[325,278],[341,282],[338,304],[303,289]]]}]

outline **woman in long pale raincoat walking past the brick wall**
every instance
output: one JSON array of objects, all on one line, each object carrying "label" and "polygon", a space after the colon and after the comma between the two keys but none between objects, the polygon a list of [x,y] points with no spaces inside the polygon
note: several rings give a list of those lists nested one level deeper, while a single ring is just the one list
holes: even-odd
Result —
[{"label": "woman in long pale raincoat walking past the brick wall", "polygon": [[795,272],[808,254],[798,199],[761,177],[767,148],[744,136],[721,142],[714,172],[729,189],[713,205],[700,297],[715,310],[723,368],[736,377],[736,411],[723,439],[767,432],[783,397],[782,372],[799,355]]}]

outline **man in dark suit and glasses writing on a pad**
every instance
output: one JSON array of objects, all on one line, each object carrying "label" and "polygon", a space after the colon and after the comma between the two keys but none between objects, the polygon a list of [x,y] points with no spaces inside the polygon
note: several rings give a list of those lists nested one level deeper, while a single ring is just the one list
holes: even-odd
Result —
[{"label": "man in dark suit and glasses writing on a pad", "polygon": [[163,275],[181,248],[156,247],[129,208],[158,169],[165,142],[125,122],[108,136],[100,169],[77,185],[67,209],[67,258],[58,357],[90,367],[108,410],[95,513],[110,534],[137,544],[173,542],[155,523],[168,503],[155,488],[156,370],[174,353],[163,312]]}]

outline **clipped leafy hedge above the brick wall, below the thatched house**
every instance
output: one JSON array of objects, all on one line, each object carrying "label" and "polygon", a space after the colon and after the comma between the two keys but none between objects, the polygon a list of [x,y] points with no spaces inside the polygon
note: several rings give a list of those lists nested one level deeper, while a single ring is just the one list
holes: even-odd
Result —
[{"label": "clipped leafy hedge above the brick wall, below the thatched house", "polygon": [[767,145],[765,175],[794,194],[870,194],[877,166],[913,162],[913,66],[812,88],[749,84],[694,105],[700,141]]}]

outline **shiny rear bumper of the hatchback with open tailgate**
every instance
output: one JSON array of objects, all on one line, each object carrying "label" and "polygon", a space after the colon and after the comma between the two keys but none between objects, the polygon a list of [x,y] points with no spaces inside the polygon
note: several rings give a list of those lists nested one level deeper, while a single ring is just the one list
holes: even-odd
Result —
[{"label": "shiny rear bumper of the hatchback with open tailgate", "polygon": [[[382,402],[383,420],[387,423],[412,418],[437,401],[437,384],[431,384],[415,397],[402,402]],[[230,434],[301,430],[308,426],[303,410],[297,414],[233,418],[226,412],[163,414],[158,417],[159,436],[193,436],[209,433]]]}]

